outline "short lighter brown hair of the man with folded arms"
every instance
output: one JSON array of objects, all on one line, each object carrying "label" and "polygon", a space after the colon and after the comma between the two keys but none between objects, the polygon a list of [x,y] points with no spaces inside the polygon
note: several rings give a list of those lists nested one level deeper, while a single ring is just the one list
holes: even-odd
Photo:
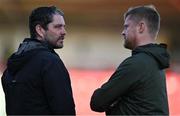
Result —
[{"label": "short lighter brown hair of the man with folded arms", "polygon": [[160,28],[160,15],[153,5],[138,6],[129,8],[124,14],[124,18],[130,16],[130,19],[135,22],[145,20],[147,23],[149,33],[155,36],[159,32]]}]

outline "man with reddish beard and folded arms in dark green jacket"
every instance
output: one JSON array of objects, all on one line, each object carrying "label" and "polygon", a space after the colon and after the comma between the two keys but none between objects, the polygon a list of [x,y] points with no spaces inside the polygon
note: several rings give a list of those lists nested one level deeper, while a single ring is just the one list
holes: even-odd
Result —
[{"label": "man with reddish beard and folded arms in dark green jacket", "polygon": [[124,15],[124,47],[132,50],[111,78],[96,89],[91,109],[107,115],[168,115],[165,44],[156,44],[160,16],[154,6],[130,8]]}]

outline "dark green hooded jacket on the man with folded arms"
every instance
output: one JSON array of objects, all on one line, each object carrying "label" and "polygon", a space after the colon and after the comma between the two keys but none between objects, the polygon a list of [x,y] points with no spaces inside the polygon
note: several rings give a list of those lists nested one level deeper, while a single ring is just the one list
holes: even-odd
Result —
[{"label": "dark green hooded jacket on the man with folded arms", "polygon": [[164,44],[137,47],[111,78],[95,90],[91,109],[107,115],[168,115],[166,79],[169,67]]}]

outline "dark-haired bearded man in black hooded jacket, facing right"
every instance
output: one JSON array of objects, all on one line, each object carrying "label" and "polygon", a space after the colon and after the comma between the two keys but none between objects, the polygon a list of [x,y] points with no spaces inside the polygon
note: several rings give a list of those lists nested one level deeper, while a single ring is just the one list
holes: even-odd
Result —
[{"label": "dark-haired bearded man in black hooded jacket, facing right", "polygon": [[26,38],[8,59],[2,85],[8,115],[75,115],[69,73],[54,49],[62,48],[64,14],[39,7],[29,17]]}]

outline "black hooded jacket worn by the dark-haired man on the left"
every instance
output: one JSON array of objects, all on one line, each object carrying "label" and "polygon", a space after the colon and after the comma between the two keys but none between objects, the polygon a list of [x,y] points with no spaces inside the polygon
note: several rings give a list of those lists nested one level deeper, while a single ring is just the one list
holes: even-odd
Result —
[{"label": "black hooded jacket worn by the dark-haired man on the left", "polygon": [[46,43],[25,39],[8,59],[2,85],[8,115],[75,115],[68,71]]}]

